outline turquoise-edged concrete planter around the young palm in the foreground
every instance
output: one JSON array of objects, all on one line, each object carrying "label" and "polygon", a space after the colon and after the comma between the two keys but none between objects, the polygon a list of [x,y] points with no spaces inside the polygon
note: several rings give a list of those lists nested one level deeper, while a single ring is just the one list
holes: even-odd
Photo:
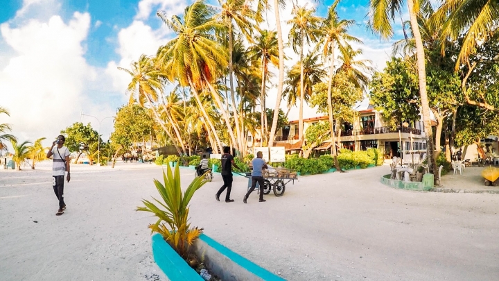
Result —
[{"label": "turquoise-edged concrete planter around the young palm in the foreground", "polygon": [[[204,264],[211,273],[218,275],[224,281],[284,280],[204,234],[195,242],[193,250],[198,257],[204,259]],[[203,280],[159,234],[152,235],[152,255],[170,281]]]}]

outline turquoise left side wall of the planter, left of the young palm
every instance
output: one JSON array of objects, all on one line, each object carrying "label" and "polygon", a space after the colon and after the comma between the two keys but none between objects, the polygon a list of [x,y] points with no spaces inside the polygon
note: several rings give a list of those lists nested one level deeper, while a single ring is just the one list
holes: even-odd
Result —
[{"label": "turquoise left side wall of the planter, left of the young palm", "polygon": [[159,234],[152,235],[152,255],[170,281],[204,281]]}]

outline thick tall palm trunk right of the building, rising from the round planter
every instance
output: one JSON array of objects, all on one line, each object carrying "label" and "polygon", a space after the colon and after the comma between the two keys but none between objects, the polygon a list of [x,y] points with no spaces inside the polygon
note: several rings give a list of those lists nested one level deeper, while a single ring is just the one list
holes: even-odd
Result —
[{"label": "thick tall palm trunk right of the building, rising from the round planter", "polygon": [[[426,152],[428,153],[428,170],[435,174],[437,162],[435,158],[435,142],[433,142],[433,131],[430,119],[430,105],[428,103],[428,94],[426,94],[426,67],[423,42],[421,41],[421,33],[419,32],[419,24],[417,22],[417,11],[414,10],[414,0],[408,0],[409,17],[414,40],[416,41],[416,56],[418,66],[419,80],[419,95],[421,96],[421,111],[423,112],[423,122],[426,136]],[[434,177],[435,183],[437,177]]]}]

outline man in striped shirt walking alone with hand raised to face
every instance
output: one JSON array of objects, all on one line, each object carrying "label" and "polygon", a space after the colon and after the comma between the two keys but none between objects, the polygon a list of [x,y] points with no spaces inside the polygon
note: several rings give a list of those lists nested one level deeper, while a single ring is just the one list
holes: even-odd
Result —
[{"label": "man in striped shirt walking alone with hand raised to face", "polygon": [[[53,155],[52,164],[52,187],[59,201],[59,210],[55,214],[60,216],[64,214],[66,210],[66,204],[64,203],[64,174],[68,172],[66,180],[69,182],[71,180],[71,174],[69,173],[69,149],[64,145],[66,138],[63,135],[59,135],[57,139],[52,143],[52,147],[47,152],[47,158]],[[57,146],[55,146],[57,144]]]}]

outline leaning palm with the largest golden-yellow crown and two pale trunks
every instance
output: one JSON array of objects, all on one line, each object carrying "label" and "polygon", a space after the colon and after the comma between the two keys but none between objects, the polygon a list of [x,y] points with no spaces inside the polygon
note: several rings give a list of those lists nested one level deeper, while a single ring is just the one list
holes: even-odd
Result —
[{"label": "leaning palm with the largest golden-yellow crown and two pale trunks", "polygon": [[[218,74],[217,69],[227,65],[227,52],[217,41],[216,32],[224,26],[213,19],[213,7],[204,1],[195,1],[184,10],[184,17],[173,16],[168,19],[164,12],[158,12],[163,22],[170,30],[177,34],[173,40],[161,46],[158,50],[158,60],[164,69],[168,80],[178,80],[182,87],[189,85],[201,110],[201,101],[198,92],[207,89],[220,110],[231,142],[237,144],[234,130],[232,130],[229,115],[225,111],[220,94],[213,87],[213,81]],[[205,119],[209,119],[205,112]],[[215,132],[213,124],[209,124]],[[218,139],[218,135],[215,135]],[[220,139],[218,139],[220,142]]]}]

